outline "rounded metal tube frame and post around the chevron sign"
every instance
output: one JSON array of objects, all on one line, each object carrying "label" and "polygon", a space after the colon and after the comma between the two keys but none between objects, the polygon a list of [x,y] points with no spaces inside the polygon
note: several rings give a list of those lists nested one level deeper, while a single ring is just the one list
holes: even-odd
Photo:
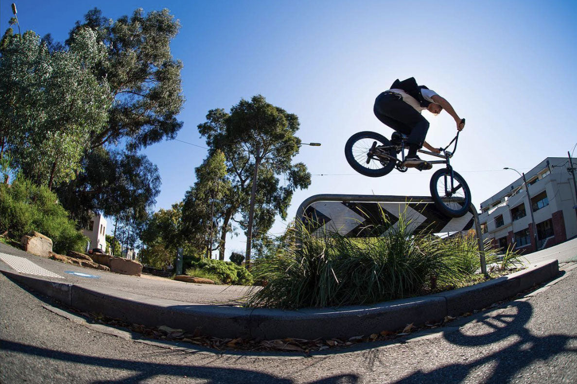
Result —
[{"label": "rounded metal tube frame and post around the chevron sign", "polygon": [[[460,201],[459,198],[447,198],[446,201]],[[319,194],[313,195],[308,199],[305,199],[297,209],[297,215],[295,217],[295,222],[304,224],[304,219],[306,219],[306,210],[317,202],[341,202],[345,205],[351,205],[355,203],[377,203],[377,204],[403,204],[408,206],[409,204],[434,204],[433,199],[430,196],[395,196],[395,195],[346,195],[346,194]],[[402,210],[399,208],[399,212]],[[345,211],[346,212],[346,211]],[[481,261],[481,272],[487,274],[487,266],[485,262],[485,249],[483,246],[483,238],[481,234],[481,225],[479,224],[479,216],[477,209],[473,204],[470,204],[469,212],[473,214],[475,232],[477,234],[477,243],[479,247],[479,258]],[[336,213],[343,214],[343,213]],[[344,213],[346,214],[346,213]],[[446,217],[446,216],[444,216]],[[447,222],[452,220],[451,217],[446,217]],[[335,217],[331,218],[332,220]],[[297,225],[297,227],[301,227]],[[417,228],[415,228],[417,229]],[[351,232],[353,233],[353,232]],[[349,234],[350,235],[350,234]],[[355,235],[353,233],[353,235]]]}]

